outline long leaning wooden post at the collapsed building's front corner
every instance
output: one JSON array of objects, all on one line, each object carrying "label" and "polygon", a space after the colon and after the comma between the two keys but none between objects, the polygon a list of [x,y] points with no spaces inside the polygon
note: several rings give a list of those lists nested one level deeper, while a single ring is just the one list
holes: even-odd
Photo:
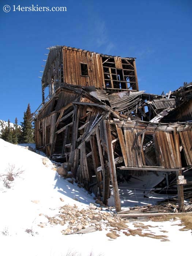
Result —
[{"label": "long leaning wooden post at the collapsed building's front corner", "polygon": [[105,142],[108,148],[108,161],[109,161],[109,170],[110,176],[113,185],[113,193],[114,193],[114,201],[115,201],[115,208],[116,211],[121,211],[121,202],[118,193],[118,183],[117,183],[117,175],[116,175],[116,168],[115,168],[115,161],[113,155],[113,147],[112,147],[112,139],[111,139],[111,129],[110,129],[110,120],[104,120],[104,133],[105,133]]}]

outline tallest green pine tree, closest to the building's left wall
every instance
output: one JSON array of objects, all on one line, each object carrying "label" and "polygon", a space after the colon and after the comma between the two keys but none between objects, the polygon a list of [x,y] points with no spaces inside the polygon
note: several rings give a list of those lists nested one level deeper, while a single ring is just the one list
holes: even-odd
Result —
[{"label": "tallest green pine tree, closest to the building's left wall", "polygon": [[28,104],[26,112],[24,112],[22,127],[22,143],[34,143],[34,128],[31,123],[32,114],[31,108]]}]

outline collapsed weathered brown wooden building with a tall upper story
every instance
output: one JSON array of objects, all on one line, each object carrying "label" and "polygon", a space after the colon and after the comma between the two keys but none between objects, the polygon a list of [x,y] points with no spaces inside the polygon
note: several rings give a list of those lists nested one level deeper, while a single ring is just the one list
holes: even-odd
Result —
[{"label": "collapsed weathered brown wooden building with a tall upper story", "polygon": [[192,167],[192,84],[167,95],[148,94],[139,91],[135,58],[52,47],[35,142],[52,159],[67,163],[76,181],[106,205],[111,184],[120,211],[121,172],[178,177]]}]

